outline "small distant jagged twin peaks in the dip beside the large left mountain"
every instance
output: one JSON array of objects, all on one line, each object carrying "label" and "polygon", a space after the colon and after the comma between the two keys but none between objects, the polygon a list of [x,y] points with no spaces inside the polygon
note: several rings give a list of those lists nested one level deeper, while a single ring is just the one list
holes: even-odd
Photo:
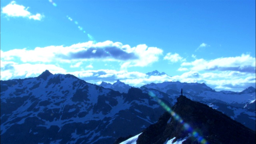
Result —
[{"label": "small distant jagged twin peaks in the dip beside the large left mountain", "polygon": [[114,84],[102,82],[99,86],[102,86],[104,88],[111,88],[112,90],[118,91],[120,93],[127,93],[128,90],[131,88],[131,86],[125,84],[124,82],[120,82],[120,80],[117,80]]}]

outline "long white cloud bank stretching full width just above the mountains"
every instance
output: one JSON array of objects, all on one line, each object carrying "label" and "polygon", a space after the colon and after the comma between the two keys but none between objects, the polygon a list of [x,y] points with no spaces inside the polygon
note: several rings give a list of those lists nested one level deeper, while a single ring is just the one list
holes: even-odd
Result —
[{"label": "long white cloud bank stretching full width just above the mountains", "polygon": [[[242,91],[256,83],[256,59],[250,54],[235,57],[222,57],[212,60],[196,59],[188,61],[177,53],[168,53],[164,60],[171,63],[182,62],[176,71],[180,75],[148,76],[142,72],[128,72],[125,68],[134,66],[150,66],[158,62],[163,50],[140,44],[134,47],[120,42],[92,41],[73,44],[71,46],[46,46],[32,50],[14,49],[0,50],[0,79],[28,78],[39,76],[46,69],[53,74],[73,74],[92,84],[102,81],[114,83],[120,80],[130,86],[140,87],[149,83],[162,82],[198,82],[205,83],[215,90]],[[118,62],[120,70],[93,70],[95,61]],[[59,65],[54,63],[60,62]],[[89,62],[89,63],[88,63]],[[64,68],[62,64],[69,64],[72,70]],[[78,70],[81,65],[90,70]],[[167,72],[168,73],[168,72]]]}]

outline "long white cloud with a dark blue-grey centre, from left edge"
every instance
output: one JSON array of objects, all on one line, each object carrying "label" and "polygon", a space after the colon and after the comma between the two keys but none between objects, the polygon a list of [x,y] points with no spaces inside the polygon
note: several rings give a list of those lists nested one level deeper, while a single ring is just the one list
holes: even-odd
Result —
[{"label": "long white cloud with a dark blue-grey centre, from left edge", "polygon": [[[14,49],[1,51],[1,60],[20,58],[22,62],[81,62],[87,60],[104,60],[120,62],[122,68],[148,66],[158,61],[162,50],[140,44],[131,48],[120,42],[84,42],[71,46],[36,47],[34,50]],[[129,61],[128,63],[126,61]]]}]

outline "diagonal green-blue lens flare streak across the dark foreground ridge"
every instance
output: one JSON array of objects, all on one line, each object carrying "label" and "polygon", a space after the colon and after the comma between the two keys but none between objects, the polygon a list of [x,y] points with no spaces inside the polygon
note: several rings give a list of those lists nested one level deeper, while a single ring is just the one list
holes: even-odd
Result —
[{"label": "diagonal green-blue lens flare streak across the dark foreground ridge", "polygon": [[180,124],[183,125],[183,128],[186,131],[192,133],[192,136],[196,138],[198,142],[200,142],[201,144],[208,144],[208,142],[202,136],[200,136],[198,132],[193,130],[193,128],[188,123],[184,122],[184,120],[182,120],[182,118],[178,114],[176,114],[169,106],[162,102],[162,100],[158,98],[153,92],[148,92],[148,95],[154,98],[167,112],[169,112],[172,115],[172,117],[176,121],[180,122]]}]

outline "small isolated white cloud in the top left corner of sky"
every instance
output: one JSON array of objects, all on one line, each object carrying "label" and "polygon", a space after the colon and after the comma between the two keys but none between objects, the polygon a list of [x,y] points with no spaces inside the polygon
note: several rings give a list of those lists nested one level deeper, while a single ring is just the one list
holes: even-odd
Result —
[{"label": "small isolated white cloud in the top left corner of sky", "polygon": [[42,14],[31,14],[28,11],[28,8],[29,7],[26,8],[25,6],[18,5],[15,1],[12,1],[10,4],[2,8],[2,13],[6,14],[8,17],[24,17],[33,20],[42,20],[42,18],[44,18],[44,15]]}]

